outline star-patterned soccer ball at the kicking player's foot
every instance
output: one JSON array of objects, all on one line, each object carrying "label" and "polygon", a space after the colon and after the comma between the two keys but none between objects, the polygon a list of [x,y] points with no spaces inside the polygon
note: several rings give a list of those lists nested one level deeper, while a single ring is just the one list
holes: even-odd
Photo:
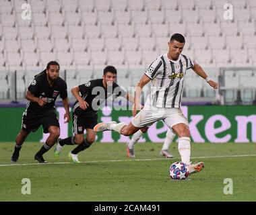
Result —
[{"label": "star-patterned soccer ball at the kicking player's foot", "polygon": [[170,165],[170,178],[174,180],[183,180],[189,177],[187,165],[183,162],[175,162]]}]

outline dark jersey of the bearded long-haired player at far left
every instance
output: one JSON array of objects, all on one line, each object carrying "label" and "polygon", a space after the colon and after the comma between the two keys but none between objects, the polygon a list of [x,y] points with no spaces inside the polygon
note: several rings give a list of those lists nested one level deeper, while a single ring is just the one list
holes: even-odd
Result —
[{"label": "dark jersey of the bearded long-haired player at far left", "polygon": [[28,101],[26,112],[30,114],[44,114],[55,110],[54,105],[58,95],[60,95],[61,99],[67,98],[67,83],[59,77],[51,87],[47,80],[47,75],[44,73],[34,78],[28,87],[28,91],[35,97],[46,98],[47,103],[40,106],[37,102]]}]

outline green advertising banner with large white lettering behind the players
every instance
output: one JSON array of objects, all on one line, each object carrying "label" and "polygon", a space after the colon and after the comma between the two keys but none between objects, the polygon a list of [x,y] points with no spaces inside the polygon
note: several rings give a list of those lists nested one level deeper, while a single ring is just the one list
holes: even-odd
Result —
[{"label": "green advertising banner with large white lettering behind the players", "polygon": [[[24,107],[1,107],[1,142],[14,142],[22,124]],[[183,114],[189,120],[193,142],[256,142],[256,106],[183,106]],[[57,107],[61,138],[71,136],[72,122],[64,124],[64,109]],[[130,110],[111,110],[104,107],[98,113],[98,122],[130,122]],[[147,134],[139,142],[164,142],[167,126],[161,121],[150,126]],[[127,142],[129,137],[116,132],[97,134],[100,142]],[[42,127],[28,136],[27,141],[44,142],[48,134]]]}]

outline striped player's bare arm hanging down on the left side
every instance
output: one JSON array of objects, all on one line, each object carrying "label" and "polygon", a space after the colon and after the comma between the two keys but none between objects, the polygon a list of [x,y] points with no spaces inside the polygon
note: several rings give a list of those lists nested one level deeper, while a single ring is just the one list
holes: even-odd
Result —
[{"label": "striped player's bare arm hanging down on the left side", "polygon": [[133,116],[136,115],[137,110],[141,110],[140,97],[141,97],[142,89],[150,81],[151,79],[147,75],[143,75],[135,87]]}]

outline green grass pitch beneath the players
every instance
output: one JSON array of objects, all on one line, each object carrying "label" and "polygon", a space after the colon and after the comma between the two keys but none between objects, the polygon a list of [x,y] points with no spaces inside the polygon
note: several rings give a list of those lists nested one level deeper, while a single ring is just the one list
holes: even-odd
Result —
[{"label": "green grass pitch beneath the players", "polygon": [[[177,142],[170,146],[174,159],[160,157],[162,144],[137,143],[136,159],[125,155],[123,143],[95,142],[79,153],[82,163],[67,158],[74,146],[64,146],[59,158],[53,148],[37,164],[42,146],[25,142],[17,164],[11,165],[14,144],[0,143],[0,201],[255,201],[256,144],[191,144],[191,161],[205,162],[188,180],[172,181],[168,169],[180,161]],[[22,165],[26,164],[26,165]],[[22,194],[22,179],[31,182],[31,194]],[[232,179],[232,194],[224,194],[224,179]],[[228,189],[231,190],[231,189]]]}]

